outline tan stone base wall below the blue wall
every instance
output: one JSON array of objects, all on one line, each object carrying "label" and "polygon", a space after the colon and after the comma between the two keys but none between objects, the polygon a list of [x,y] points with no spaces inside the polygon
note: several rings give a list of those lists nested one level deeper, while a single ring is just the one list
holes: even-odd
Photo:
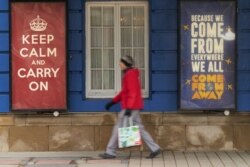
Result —
[{"label": "tan stone base wall below the blue wall", "polygon": [[[145,128],[165,150],[250,150],[249,114],[141,116]],[[105,150],[116,117],[116,113],[0,115],[0,151]]]}]

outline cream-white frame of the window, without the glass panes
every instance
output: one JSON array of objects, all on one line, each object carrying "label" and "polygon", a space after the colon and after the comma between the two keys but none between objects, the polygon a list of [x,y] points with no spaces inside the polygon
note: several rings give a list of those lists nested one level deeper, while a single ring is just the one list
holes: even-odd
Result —
[{"label": "cream-white frame of the window, without the glass panes", "polygon": [[[91,90],[91,33],[90,33],[90,8],[91,7],[114,7],[114,69],[115,69],[115,83],[114,89],[112,90]],[[145,70],[145,89],[142,90],[144,98],[149,97],[149,24],[148,24],[148,2],[147,1],[108,1],[108,2],[86,2],[86,13],[85,13],[85,35],[86,35],[86,98],[112,98],[121,90],[121,70],[119,67],[120,55],[121,55],[121,41],[120,33],[120,9],[122,6],[143,6],[145,10],[145,46],[144,46],[144,70]]]}]

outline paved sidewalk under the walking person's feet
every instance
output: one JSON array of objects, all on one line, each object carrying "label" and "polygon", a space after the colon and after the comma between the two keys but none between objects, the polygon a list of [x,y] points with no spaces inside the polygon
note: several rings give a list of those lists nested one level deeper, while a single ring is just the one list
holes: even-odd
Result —
[{"label": "paved sidewalk under the walking person's feet", "polygon": [[101,152],[0,153],[0,167],[250,167],[250,152],[164,151],[155,159],[148,152],[120,153],[116,159],[99,159]]}]

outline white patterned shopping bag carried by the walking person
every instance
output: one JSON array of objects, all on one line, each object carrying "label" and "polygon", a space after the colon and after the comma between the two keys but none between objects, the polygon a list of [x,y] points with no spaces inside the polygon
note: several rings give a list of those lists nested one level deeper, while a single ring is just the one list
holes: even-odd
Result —
[{"label": "white patterned shopping bag carried by the walking person", "polygon": [[142,142],[139,126],[133,125],[131,117],[129,117],[129,126],[126,126],[125,122],[127,122],[127,117],[124,118],[123,127],[118,128],[119,148],[141,145]]}]

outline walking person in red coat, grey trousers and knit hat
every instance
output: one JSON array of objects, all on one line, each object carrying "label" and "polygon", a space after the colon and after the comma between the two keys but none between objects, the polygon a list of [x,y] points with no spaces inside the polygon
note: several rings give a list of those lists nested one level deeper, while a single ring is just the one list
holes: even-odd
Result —
[{"label": "walking person in red coat, grey trousers and knit hat", "polygon": [[118,128],[122,127],[125,116],[132,117],[133,124],[139,126],[141,137],[151,151],[146,158],[154,158],[161,152],[159,145],[154,142],[150,134],[144,129],[141,121],[140,111],[143,109],[143,99],[139,80],[140,76],[139,70],[133,68],[133,62],[131,56],[124,56],[121,58],[119,65],[123,72],[122,90],[105,106],[105,108],[109,110],[114,104],[120,102],[122,110],[119,113],[118,120],[113,128],[106,152],[100,154],[100,157],[103,159],[116,158]]}]

